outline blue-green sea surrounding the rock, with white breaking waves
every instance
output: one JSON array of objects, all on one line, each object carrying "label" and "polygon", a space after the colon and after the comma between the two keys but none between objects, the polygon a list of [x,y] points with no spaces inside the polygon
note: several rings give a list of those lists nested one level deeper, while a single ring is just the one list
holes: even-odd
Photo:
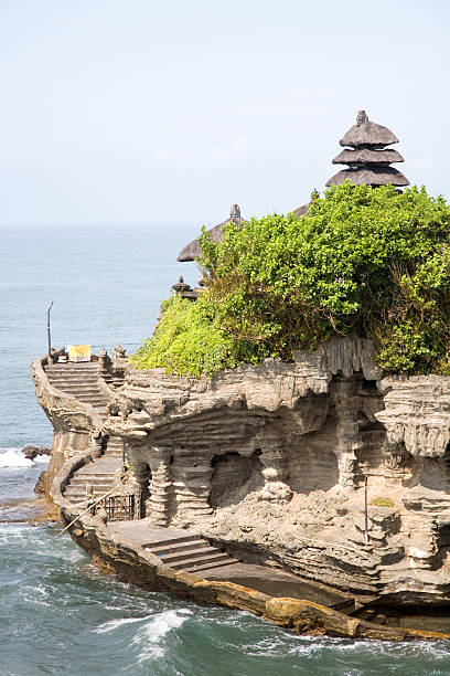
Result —
[{"label": "blue-green sea surrounding the rock, with white breaking waves", "polygon": [[52,345],[132,352],[180,275],[193,223],[0,226],[0,676],[450,674],[444,642],[297,636],[249,613],[148,592],[100,573],[60,524],[36,524],[33,487],[51,445],[30,362]]}]

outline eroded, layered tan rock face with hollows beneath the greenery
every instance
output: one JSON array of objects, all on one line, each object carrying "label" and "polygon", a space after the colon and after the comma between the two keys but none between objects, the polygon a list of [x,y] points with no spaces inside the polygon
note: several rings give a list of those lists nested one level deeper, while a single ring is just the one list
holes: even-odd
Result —
[{"label": "eroded, layered tan rock face with hollows beneath the greenery", "polygon": [[113,379],[105,359],[101,433],[153,526],[362,599],[449,603],[450,378],[384,378],[371,350],[334,338],[211,380],[125,360]]}]

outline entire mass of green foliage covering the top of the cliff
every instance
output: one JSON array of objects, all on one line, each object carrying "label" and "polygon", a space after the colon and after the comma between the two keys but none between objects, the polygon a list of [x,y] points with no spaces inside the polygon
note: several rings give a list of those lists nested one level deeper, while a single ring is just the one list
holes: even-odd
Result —
[{"label": "entire mass of green foliage covering the top of the cliff", "polygon": [[205,293],[170,299],[135,363],[211,374],[357,334],[385,371],[450,373],[449,233],[449,207],[425,188],[350,183],[309,216],[231,223],[221,244],[203,231]]}]

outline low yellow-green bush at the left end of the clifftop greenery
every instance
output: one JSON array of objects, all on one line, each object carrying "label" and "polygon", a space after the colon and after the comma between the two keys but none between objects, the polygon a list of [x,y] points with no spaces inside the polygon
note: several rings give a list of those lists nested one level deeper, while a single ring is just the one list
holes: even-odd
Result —
[{"label": "low yellow-green bush at the left end of the clifftop greenery", "polygon": [[213,309],[205,296],[191,303],[180,295],[164,300],[161,320],[130,358],[137,369],[164,367],[168,373],[211,376],[225,366],[235,366],[233,340],[213,323]]}]

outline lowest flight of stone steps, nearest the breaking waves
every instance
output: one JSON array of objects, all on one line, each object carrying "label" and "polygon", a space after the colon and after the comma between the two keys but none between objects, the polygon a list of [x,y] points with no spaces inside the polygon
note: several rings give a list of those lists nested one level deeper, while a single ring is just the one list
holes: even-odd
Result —
[{"label": "lowest flight of stone steps, nearest the breaking waves", "polygon": [[147,542],[143,547],[174,570],[194,573],[237,562],[195,535],[171,529],[161,535],[164,537]]}]

